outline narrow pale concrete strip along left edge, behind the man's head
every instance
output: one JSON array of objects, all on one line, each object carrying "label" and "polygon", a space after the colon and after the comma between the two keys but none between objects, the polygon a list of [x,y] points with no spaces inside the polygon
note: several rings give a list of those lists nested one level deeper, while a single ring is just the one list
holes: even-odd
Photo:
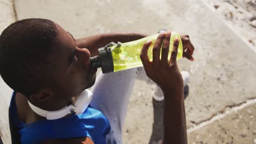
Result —
[{"label": "narrow pale concrete strip along left edge, behind the man's head", "polygon": [[[10,0],[0,0],[0,33],[3,29],[15,21],[15,14],[13,11],[13,2]],[[5,85],[0,77],[0,136],[4,143],[10,143],[8,107],[11,97],[11,89]]]}]

